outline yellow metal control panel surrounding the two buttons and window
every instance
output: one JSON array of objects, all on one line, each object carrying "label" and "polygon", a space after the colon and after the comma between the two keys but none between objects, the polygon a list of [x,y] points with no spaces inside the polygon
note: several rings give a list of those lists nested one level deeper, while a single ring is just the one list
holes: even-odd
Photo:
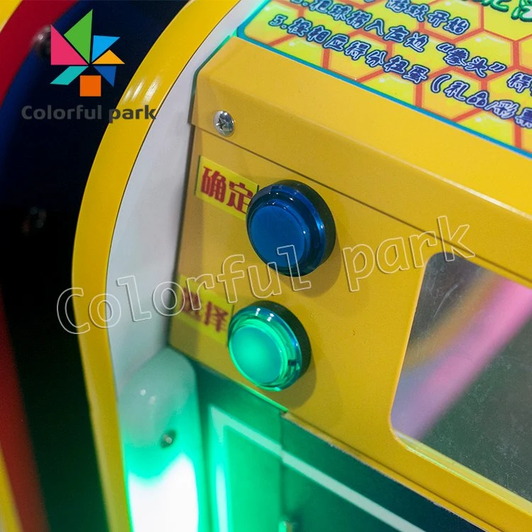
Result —
[{"label": "yellow metal control panel surrounding the two buttons and window", "polygon": [[[233,121],[230,135],[219,110]],[[392,117],[395,127],[383,128]],[[409,423],[401,433],[401,416],[391,417],[421,288],[427,272],[442,271],[438,260],[532,286],[532,204],[519,192],[528,158],[243,38],[199,72],[193,121],[171,344],[482,526],[526,528],[531,502],[511,484],[447,458]],[[333,250],[308,275],[268,267],[249,214],[248,223],[240,216],[284,182],[309,187],[333,217]],[[286,227],[271,238],[284,242]],[[297,316],[311,345],[308,370],[286,389],[257,386],[228,350],[231,318],[266,300]],[[456,321],[438,327],[455,331]]]}]

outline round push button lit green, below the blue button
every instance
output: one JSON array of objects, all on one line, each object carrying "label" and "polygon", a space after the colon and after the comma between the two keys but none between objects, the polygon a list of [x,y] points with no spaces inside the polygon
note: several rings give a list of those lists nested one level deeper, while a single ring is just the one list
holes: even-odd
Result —
[{"label": "round push button lit green, below the blue button", "polygon": [[310,343],[304,327],[292,312],[271,301],[235,314],[228,337],[238,371],[260,388],[285,389],[309,366]]}]

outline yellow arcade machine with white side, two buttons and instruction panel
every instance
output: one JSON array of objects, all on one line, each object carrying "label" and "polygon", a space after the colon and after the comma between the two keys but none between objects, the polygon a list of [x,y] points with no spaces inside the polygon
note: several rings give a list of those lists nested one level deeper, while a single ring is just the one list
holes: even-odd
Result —
[{"label": "yellow arcade machine with white side, two buttons and instruction panel", "polygon": [[528,0],[171,18],[104,106],[57,301],[112,532],[532,528],[531,28]]}]

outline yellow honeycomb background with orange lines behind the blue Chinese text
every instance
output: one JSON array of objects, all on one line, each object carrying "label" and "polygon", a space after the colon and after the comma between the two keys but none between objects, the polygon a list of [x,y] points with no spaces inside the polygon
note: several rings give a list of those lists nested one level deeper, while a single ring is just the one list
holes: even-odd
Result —
[{"label": "yellow honeycomb background with orange lines behind the blue Chinese text", "polygon": [[[532,108],[532,87],[517,92],[507,85],[516,72],[532,74],[532,17],[521,20],[512,16],[523,2],[531,5],[532,13],[531,0],[492,0],[493,5],[483,5],[485,1],[480,3],[475,0],[402,0],[406,4],[428,6],[429,13],[447,11],[451,18],[467,20],[469,28],[460,35],[445,31],[443,23],[434,27],[428,23],[427,15],[416,18],[403,11],[394,11],[390,8],[390,0],[331,0],[329,10],[333,9],[333,5],[341,4],[350,6],[352,12],[371,13],[370,21],[382,19],[385,32],[402,26],[410,35],[413,32],[427,35],[428,42],[423,52],[406,47],[404,42],[386,39],[386,33],[379,35],[382,31],[378,29],[368,31],[367,23],[353,28],[345,20],[335,20],[331,13],[311,9],[312,4],[317,5],[318,1],[324,1],[323,5],[327,6],[328,0],[270,0],[240,29],[239,35],[532,155],[532,129],[519,125],[514,119],[524,108]],[[496,9],[497,6],[499,9]],[[282,23],[272,25],[276,16],[280,16],[277,21]],[[331,31],[331,35],[348,35],[349,43],[358,40],[370,45],[367,53],[385,50],[387,60],[401,55],[410,66],[423,65],[430,69],[427,79],[414,83],[404,79],[404,75],[387,72],[384,65],[368,65],[365,61],[367,55],[353,60],[340,50],[324,48],[323,43],[309,42],[304,35],[289,33],[287,29],[298,18],[311,21],[313,28],[323,26]],[[485,57],[489,65],[499,62],[506,65],[506,69],[484,72],[485,77],[481,77],[475,71],[465,70],[463,65],[448,65],[444,60],[446,53],[436,48],[438,45],[445,46],[444,43],[467,50],[469,60]],[[444,80],[437,92],[431,89],[436,79]],[[445,88],[455,81],[470,87],[462,98],[460,95],[458,98],[445,95]],[[479,91],[489,92],[489,101],[514,101],[519,104],[519,111],[515,116],[499,118],[494,112],[465,101]]]}]

